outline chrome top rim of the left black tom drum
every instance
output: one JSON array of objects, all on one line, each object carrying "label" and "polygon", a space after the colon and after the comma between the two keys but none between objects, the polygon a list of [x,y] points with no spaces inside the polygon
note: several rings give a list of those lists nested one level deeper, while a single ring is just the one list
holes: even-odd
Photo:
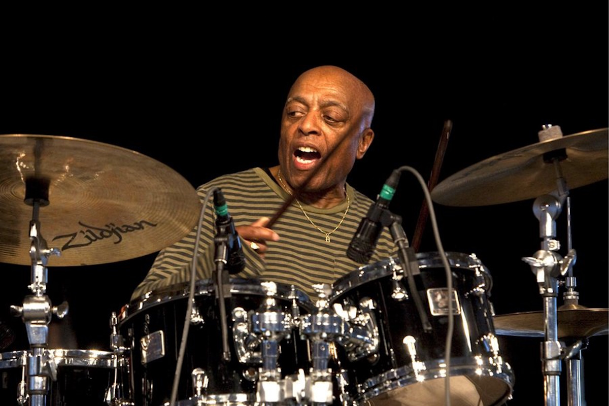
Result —
[{"label": "chrome top rim of the left black tom drum", "polygon": [[[265,281],[254,278],[230,278],[227,285],[230,285],[231,294],[247,293],[256,296],[266,296],[266,293],[261,289],[262,282]],[[292,299],[290,293],[294,292],[295,299],[300,306],[305,307],[305,309],[309,311],[315,309],[315,304],[303,290],[293,288],[294,285],[274,281],[273,283],[275,283],[277,287],[277,293],[276,295],[273,295],[274,298],[288,301]],[[212,279],[197,280],[195,283],[195,298],[197,296],[211,295],[214,292],[213,287],[214,283]],[[188,298],[189,293],[190,283],[179,282],[141,295],[138,299],[134,299],[130,301],[128,305],[122,307],[121,313],[119,314],[119,323],[124,323],[129,318],[135,317],[135,315],[146,309],[170,303],[178,299]]]}]

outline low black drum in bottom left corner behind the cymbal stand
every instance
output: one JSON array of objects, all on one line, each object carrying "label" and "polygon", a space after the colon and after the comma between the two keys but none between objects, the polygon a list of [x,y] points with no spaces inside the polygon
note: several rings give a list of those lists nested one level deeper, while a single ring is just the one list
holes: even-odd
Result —
[{"label": "low black drum in bottom left corner behind the cymbal stand", "polygon": [[[49,377],[46,404],[52,406],[108,406],[108,390],[122,377],[124,363],[112,352],[49,349],[57,366],[57,380]],[[27,351],[0,354],[0,404],[18,406],[27,394]],[[108,397],[110,396],[110,397]],[[29,402],[27,404],[30,404]]]}]

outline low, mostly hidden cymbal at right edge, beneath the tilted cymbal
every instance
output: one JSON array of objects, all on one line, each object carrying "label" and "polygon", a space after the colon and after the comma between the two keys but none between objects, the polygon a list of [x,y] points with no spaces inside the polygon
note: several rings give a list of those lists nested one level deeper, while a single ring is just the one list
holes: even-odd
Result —
[{"label": "low, mostly hidden cymbal at right edge, beneath the tilted cymbal", "polygon": [[[609,317],[607,309],[557,310],[558,338],[586,338],[593,335],[607,335]],[[515,335],[519,337],[545,337],[543,312],[522,312],[495,315],[493,324],[498,335]]]}]

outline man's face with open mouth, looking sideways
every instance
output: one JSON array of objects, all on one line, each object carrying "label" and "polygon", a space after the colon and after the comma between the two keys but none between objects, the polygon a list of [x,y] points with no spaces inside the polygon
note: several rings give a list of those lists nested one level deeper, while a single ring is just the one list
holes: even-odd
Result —
[{"label": "man's face with open mouth, looking sideways", "polygon": [[301,187],[325,159],[303,191],[342,189],[371,141],[362,140],[362,110],[361,88],[342,72],[312,71],[294,83],[283,111],[278,154],[292,186]]}]

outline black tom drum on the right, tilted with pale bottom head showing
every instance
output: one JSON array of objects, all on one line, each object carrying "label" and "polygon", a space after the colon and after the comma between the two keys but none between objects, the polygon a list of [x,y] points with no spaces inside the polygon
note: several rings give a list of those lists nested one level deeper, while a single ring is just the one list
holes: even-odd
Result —
[{"label": "black tom drum on the right, tilted with pale bottom head showing", "polygon": [[[431,332],[423,328],[407,273],[397,260],[366,265],[333,284],[331,303],[365,338],[359,343],[345,338],[337,346],[336,374],[345,399],[444,405],[446,376],[452,406],[498,405],[510,396],[514,377],[495,337],[490,273],[474,254],[446,253],[446,259],[450,294],[439,253],[418,253],[418,269],[412,270],[414,294]],[[447,371],[449,298],[454,329]]]}]

